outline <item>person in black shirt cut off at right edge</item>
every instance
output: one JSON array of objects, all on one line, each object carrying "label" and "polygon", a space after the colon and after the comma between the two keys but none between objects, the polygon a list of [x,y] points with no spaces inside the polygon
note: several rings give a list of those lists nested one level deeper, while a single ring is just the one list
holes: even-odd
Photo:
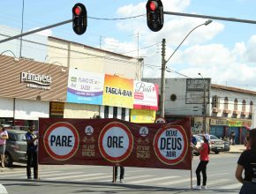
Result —
[{"label": "person in black shirt cut off at right edge", "polygon": [[243,183],[239,194],[256,193],[256,128],[249,131],[248,143],[250,149],[241,153],[237,161],[236,178],[238,182]]}]

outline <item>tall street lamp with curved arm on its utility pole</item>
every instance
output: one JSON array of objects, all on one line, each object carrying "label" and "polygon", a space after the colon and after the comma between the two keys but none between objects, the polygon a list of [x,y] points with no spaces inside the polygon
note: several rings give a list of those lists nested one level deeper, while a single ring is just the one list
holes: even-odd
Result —
[{"label": "tall street lamp with curved arm on its utility pole", "polygon": [[186,40],[186,38],[192,34],[192,32],[197,29],[200,26],[207,26],[210,23],[212,23],[213,20],[208,19],[206,22],[204,22],[203,24],[200,24],[199,26],[195,26],[194,28],[192,28],[192,30],[184,37],[184,39],[179,43],[179,45],[177,46],[177,48],[173,51],[173,53],[169,56],[168,60],[165,61],[164,57],[165,57],[165,39],[162,40],[162,77],[161,77],[161,98],[160,98],[160,116],[164,117],[164,93],[165,93],[165,78],[164,78],[164,72],[166,71],[166,63],[169,62],[169,59],[176,53],[177,49],[182,45],[182,43],[184,42],[184,40]]}]

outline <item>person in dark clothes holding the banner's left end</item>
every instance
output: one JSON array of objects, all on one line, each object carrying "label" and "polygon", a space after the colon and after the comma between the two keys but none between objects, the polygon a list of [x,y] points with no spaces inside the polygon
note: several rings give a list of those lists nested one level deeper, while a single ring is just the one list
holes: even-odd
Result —
[{"label": "person in dark clothes holding the banner's left end", "polygon": [[34,130],[34,124],[31,124],[26,132],[27,179],[31,179],[31,167],[34,168],[34,179],[38,179],[37,145],[35,144],[35,140],[38,139],[38,137],[35,136]]}]

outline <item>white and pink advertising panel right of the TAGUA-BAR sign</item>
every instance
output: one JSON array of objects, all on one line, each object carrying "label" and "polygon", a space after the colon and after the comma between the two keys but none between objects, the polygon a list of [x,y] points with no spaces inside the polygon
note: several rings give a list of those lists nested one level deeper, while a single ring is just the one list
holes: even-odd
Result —
[{"label": "white and pink advertising panel right of the TAGUA-BAR sign", "polygon": [[133,92],[133,108],[158,110],[158,85],[134,80]]}]

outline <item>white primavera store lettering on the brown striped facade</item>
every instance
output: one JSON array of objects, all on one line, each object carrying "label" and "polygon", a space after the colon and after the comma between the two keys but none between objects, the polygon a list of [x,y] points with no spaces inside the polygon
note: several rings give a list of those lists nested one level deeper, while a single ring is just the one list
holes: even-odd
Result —
[{"label": "white primavera store lettering on the brown striped facade", "polygon": [[30,71],[20,73],[20,82],[25,82],[26,87],[50,90],[51,77],[48,75],[34,74]]}]

